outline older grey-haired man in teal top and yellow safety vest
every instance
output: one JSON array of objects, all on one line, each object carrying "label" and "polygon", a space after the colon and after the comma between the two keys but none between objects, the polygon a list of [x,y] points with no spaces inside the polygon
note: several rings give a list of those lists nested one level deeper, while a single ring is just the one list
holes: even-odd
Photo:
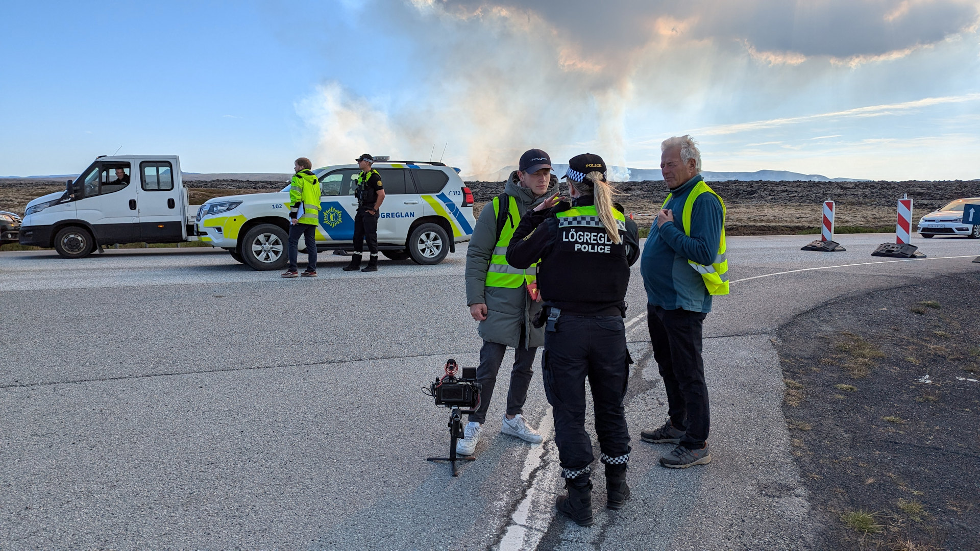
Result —
[{"label": "older grey-haired man in teal top and yellow safety vest", "polygon": [[676,444],[661,465],[685,469],[711,463],[702,327],[711,312],[711,295],[728,292],[725,211],[701,176],[701,151],[691,136],[667,138],[661,151],[663,181],[670,192],[650,228],[640,274],[669,418],[640,436],[647,442]]}]

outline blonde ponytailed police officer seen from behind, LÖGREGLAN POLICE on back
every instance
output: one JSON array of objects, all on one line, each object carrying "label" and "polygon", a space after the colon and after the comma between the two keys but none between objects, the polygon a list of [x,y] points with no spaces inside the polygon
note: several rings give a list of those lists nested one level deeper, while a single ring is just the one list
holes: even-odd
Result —
[{"label": "blonde ponytailed police officer seen from behind, L\u00d6GREGLAN POLICE on back", "polygon": [[571,158],[564,178],[571,204],[556,197],[521,219],[507,262],[526,269],[540,259],[537,282],[545,301],[542,320],[547,318],[541,364],[568,490],[557,505],[578,525],[589,526],[589,465],[595,458],[585,432],[586,377],[595,403],[600,461],[606,464],[607,506],[619,509],[629,496],[629,431],[622,401],[631,361],[623,298],[629,267],[639,256],[639,237],[633,221],[613,208],[614,191],[600,156]]}]

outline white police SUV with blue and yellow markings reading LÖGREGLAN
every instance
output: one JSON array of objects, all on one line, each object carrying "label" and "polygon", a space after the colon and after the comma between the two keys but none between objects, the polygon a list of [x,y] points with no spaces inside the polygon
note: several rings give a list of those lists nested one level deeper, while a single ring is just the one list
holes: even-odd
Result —
[{"label": "white police SUV with blue and yellow markings reading L\u00d6GREGLAN", "polygon": [[[442,163],[388,161],[375,157],[384,202],[378,213],[378,250],[393,260],[438,264],[468,241],[476,221],[473,195],[458,174]],[[320,197],[317,250],[352,249],[358,201],[357,165],[317,169]],[[256,270],[279,270],[288,262],[289,184],[276,193],[209,199],[197,213],[202,242],[226,249]],[[367,248],[367,243],[365,244]],[[306,249],[300,239],[299,250]]]}]

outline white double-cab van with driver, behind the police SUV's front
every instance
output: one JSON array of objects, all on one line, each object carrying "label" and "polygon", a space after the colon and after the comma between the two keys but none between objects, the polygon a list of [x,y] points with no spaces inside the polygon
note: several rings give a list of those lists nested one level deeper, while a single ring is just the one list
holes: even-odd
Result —
[{"label": "white double-cab van with driver, behind the police SUV's front", "polygon": [[82,258],[113,243],[195,240],[176,155],[101,156],[65,191],[27,203],[19,241]]}]

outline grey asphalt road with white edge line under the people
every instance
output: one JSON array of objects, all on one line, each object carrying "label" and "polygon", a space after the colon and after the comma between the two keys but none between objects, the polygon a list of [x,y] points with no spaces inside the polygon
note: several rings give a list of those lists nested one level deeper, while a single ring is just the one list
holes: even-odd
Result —
[{"label": "grey asphalt road with white edge line under the people", "polygon": [[[980,270],[975,240],[870,256],[892,237],[840,235],[837,253],[800,251],[806,236],[729,238],[732,293],[706,323],[714,462],[681,472],[657,465],[668,446],[638,439],[666,406],[634,270],[633,497],[607,512],[598,476],[590,528],[554,516],[553,439],[500,434],[503,400],[462,476],[424,461],[449,438],[419,388],[449,357],[475,366],[480,344],[465,246],[371,275],[321,255],[316,279],[223,251],[0,253],[0,547],[806,549],[776,329],[833,298]],[[525,415],[548,428],[538,381]]]}]

